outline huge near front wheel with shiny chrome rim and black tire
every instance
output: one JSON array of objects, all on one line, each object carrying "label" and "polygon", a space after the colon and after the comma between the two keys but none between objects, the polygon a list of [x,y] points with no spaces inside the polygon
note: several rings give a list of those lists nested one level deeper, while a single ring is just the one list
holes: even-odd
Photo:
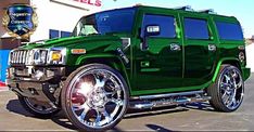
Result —
[{"label": "huge near front wheel with shiny chrome rim and black tire", "polygon": [[67,118],[79,130],[104,131],[124,117],[129,91],[118,71],[103,64],[90,64],[68,76],[61,102]]}]

